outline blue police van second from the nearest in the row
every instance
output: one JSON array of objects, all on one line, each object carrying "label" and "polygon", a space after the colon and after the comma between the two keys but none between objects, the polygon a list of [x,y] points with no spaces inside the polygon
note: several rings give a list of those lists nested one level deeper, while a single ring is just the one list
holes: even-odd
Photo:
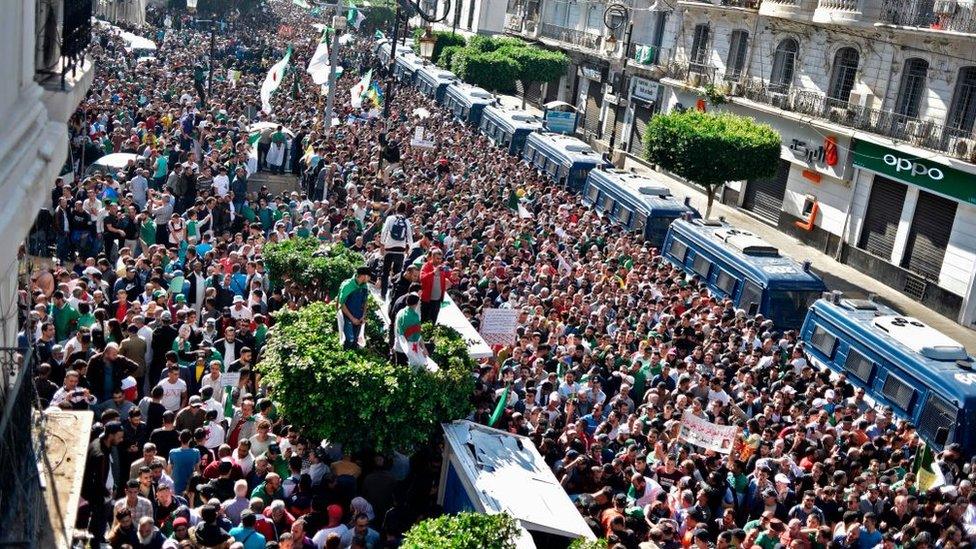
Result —
[{"label": "blue police van second from the nearest in the row", "polygon": [[675,220],[662,252],[715,296],[732,299],[747,314],[762,314],[781,329],[799,328],[807,309],[827,290],[809,262],[800,264],[721,219]]}]

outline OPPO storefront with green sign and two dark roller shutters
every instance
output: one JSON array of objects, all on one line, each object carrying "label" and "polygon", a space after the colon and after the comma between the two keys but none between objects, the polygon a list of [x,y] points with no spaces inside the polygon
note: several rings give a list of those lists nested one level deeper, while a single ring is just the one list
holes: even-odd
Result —
[{"label": "OPPO storefront with green sign and two dark roller shutters", "polygon": [[963,324],[973,318],[976,174],[855,140],[852,221],[844,260]]}]

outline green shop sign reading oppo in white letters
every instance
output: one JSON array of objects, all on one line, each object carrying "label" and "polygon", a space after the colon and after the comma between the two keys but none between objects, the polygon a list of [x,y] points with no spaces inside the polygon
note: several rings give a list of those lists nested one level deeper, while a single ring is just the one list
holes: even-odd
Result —
[{"label": "green shop sign reading oppo in white letters", "polygon": [[855,166],[976,204],[976,175],[868,141],[855,140],[853,149]]}]

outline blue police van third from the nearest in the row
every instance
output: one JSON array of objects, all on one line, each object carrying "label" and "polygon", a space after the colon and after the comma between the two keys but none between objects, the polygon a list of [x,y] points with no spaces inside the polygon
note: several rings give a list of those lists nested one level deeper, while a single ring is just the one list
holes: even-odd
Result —
[{"label": "blue police van third from the nearest in the row", "polygon": [[698,210],[671,195],[671,189],[655,177],[616,168],[590,171],[583,185],[583,203],[660,247],[671,222]]}]

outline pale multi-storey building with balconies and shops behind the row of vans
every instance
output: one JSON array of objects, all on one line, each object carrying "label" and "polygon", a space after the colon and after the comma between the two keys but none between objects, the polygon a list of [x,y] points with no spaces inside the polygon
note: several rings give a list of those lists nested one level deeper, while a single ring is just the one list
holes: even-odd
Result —
[{"label": "pale multi-storey building with balconies and shops behind the row of vans", "polygon": [[618,154],[637,158],[655,112],[729,110],[771,125],[783,138],[776,174],[729,182],[724,202],[974,325],[972,0],[626,4],[624,52],[604,3],[509,3],[509,33],[573,56],[544,100],[576,105],[581,133],[604,150],[617,127]]}]

